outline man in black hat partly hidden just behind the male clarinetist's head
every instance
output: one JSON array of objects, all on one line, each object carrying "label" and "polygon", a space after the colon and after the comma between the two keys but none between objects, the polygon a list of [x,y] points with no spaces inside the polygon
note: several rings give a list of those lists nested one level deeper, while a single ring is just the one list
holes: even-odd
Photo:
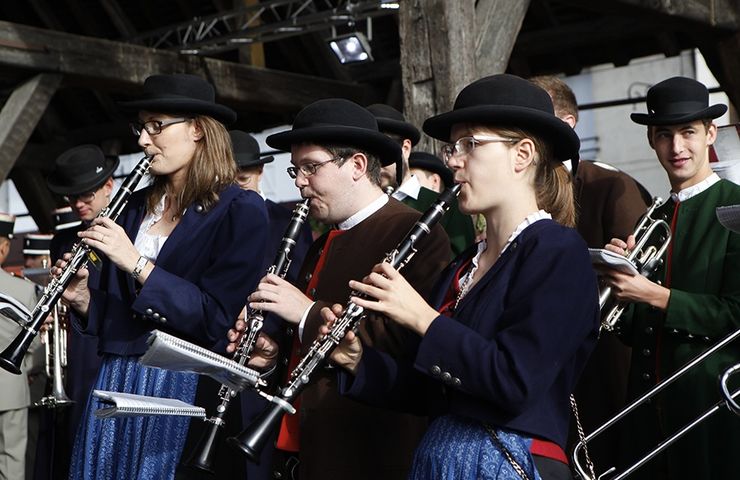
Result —
[{"label": "man in black hat partly hidden just behind the male clarinetist's head", "polygon": [[[401,146],[402,158],[383,167],[381,174],[383,188],[392,187],[392,195],[396,200],[420,212],[425,211],[437,199],[438,193],[421,185],[419,179],[412,175],[409,169],[411,149],[419,142],[421,133],[406,121],[401,112],[390,105],[376,103],[367,109],[375,116],[380,131]],[[450,206],[440,224],[450,238],[453,256],[473,244],[475,240],[473,221],[469,216],[460,213],[457,201]]]}]

